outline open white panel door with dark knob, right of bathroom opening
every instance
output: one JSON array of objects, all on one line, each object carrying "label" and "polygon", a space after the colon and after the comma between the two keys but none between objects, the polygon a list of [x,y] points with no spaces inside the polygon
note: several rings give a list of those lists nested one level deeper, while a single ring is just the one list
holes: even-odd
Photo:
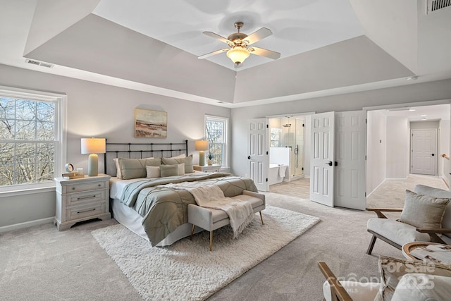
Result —
[{"label": "open white panel door with dark knob, right of bathroom opening", "polygon": [[310,198],[333,207],[334,112],[311,116]]}]

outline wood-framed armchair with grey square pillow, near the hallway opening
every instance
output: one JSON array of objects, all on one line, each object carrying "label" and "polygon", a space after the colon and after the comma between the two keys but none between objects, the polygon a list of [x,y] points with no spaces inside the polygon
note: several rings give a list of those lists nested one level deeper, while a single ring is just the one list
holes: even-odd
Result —
[{"label": "wood-framed armchair with grey square pillow, near the hallway opening", "polygon": [[[397,249],[407,242],[424,241],[451,243],[451,192],[426,185],[416,185],[406,191],[403,209],[367,208],[378,216],[369,219],[366,230],[373,236],[366,254],[373,251],[379,238]],[[383,212],[401,212],[398,220],[388,219]]]}]

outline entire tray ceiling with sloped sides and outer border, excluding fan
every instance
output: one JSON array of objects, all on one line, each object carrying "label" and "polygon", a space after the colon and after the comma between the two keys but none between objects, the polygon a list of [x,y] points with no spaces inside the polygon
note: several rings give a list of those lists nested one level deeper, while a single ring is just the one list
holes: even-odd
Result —
[{"label": "entire tray ceiling with sloped sides and outer border, excluding fan", "polygon": [[[0,63],[230,108],[451,78],[451,8],[425,3],[0,0]],[[226,54],[197,59],[226,46],[202,32],[238,20],[269,28],[255,46],[280,59],[250,56],[237,74]]]}]

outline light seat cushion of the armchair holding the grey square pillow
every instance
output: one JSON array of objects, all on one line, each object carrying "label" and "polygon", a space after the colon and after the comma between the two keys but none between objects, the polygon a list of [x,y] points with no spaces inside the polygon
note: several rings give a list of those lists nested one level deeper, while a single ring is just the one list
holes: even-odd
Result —
[{"label": "light seat cushion of the armchair holding the grey square pillow", "polygon": [[420,233],[416,231],[416,227],[394,219],[369,219],[366,222],[366,228],[398,245],[414,241],[431,241],[428,233]]}]

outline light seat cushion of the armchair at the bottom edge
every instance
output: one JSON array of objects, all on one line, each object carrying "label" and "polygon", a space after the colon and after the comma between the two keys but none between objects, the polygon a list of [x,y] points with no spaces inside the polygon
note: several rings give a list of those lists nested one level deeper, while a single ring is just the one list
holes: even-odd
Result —
[{"label": "light seat cushion of the armchair at the bottom edge", "polygon": [[[352,300],[374,300],[379,288],[381,288],[381,283],[378,282],[357,282],[357,281],[341,281],[341,285],[347,293],[350,295]],[[330,285],[328,281],[323,283],[323,296],[324,300],[332,300],[332,292],[330,291]]]}]

